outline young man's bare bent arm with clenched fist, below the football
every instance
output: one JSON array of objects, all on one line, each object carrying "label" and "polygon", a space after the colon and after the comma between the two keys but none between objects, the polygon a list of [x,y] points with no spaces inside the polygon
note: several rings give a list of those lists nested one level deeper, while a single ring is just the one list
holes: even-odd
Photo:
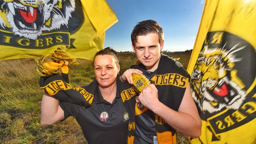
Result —
[{"label": "young man's bare bent arm with clenched fist, below the football", "polygon": [[139,95],[139,100],[180,133],[192,138],[201,135],[202,122],[191,96],[189,85],[187,85],[178,111],[174,111],[158,100],[158,90],[155,85],[145,87]]}]

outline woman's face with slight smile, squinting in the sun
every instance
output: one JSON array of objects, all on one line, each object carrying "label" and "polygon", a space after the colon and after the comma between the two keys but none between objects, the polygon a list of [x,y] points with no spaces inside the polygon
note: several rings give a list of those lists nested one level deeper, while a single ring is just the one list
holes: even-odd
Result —
[{"label": "woman's face with slight smile, squinting in the sun", "polygon": [[94,73],[96,81],[102,88],[113,85],[117,79],[117,61],[113,55],[97,55],[94,59]]}]

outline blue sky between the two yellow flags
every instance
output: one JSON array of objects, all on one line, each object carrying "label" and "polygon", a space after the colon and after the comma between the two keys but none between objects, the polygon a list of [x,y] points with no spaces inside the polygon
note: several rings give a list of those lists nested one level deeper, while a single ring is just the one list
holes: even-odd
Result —
[{"label": "blue sky between the two yellow flags", "polygon": [[105,47],[132,51],[130,34],[137,22],[156,20],[164,31],[163,50],[193,49],[204,0],[106,0],[118,22],[106,31]]}]

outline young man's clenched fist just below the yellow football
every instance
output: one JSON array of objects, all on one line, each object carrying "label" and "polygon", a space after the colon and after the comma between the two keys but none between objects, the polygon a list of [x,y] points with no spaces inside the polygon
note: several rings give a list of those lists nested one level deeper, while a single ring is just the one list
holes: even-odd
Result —
[{"label": "young man's clenched fist just below the yellow football", "polygon": [[147,85],[139,94],[139,101],[148,109],[154,107],[159,102],[158,90],[154,84]]}]

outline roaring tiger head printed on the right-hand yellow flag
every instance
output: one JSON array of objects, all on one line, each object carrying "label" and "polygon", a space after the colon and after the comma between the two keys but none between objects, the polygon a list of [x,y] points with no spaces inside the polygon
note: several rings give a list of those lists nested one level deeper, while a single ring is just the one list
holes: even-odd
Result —
[{"label": "roaring tiger head printed on the right-hand yellow flag", "polygon": [[201,111],[213,113],[223,107],[238,109],[245,99],[245,85],[234,68],[242,59],[236,58],[234,53],[246,46],[236,44],[230,50],[224,50],[225,45],[223,48],[205,45],[192,72],[192,96]]}]

